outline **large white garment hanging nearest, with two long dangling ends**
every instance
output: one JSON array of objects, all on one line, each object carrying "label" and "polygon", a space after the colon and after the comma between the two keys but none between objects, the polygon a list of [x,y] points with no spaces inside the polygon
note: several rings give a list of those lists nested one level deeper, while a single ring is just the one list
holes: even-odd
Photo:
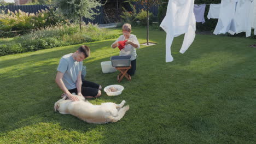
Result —
[{"label": "large white garment hanging nearest, with two long dangling ends", "polygon": [[195,15],[193,13],[194,0],[169,0],[167,12],[160,27],[166,32],[166,62],[172,62],[171,45],[174,37],[185,33],[183,44],[179,52],[184,53],[195,38]]}]

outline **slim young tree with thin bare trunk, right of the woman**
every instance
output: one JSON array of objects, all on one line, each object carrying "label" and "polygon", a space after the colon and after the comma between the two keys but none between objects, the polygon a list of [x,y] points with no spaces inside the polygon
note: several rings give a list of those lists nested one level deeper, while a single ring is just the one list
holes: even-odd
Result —
[{"label": "slim young tree with thin bare trunk, right of the woman", "polygon": [[147,11],[147,45],[149,40],[149,9],[154,5],[158,5],[160,0],[130,0],[131,2],[137,2],[144,6]]}]

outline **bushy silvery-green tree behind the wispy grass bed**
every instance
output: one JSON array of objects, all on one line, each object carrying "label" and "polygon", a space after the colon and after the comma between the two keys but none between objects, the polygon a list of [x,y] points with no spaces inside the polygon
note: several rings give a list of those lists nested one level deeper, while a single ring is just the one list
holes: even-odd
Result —
[{"label": "bushy silvery-green tree behind the wispy grass bed", "polygon": [[94,15],[100,13],[95,12],[100,11],[99,7],[102,4],[96,0],[57,0],[56,6],[60,8],[60,11],[69,20],[75,22],[79,21],[80,30],[82,29],[82,19],[83,17],[94,20]]}]

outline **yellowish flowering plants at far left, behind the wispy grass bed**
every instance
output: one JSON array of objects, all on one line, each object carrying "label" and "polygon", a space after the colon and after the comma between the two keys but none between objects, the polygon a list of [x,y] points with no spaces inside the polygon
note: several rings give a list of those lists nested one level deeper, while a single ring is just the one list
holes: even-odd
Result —
[{"label": "yellowish flowering plants at far left, behind the wispy grass bed", "polygon": [[12,12],[9,9],[5,13],[2,10],[0,13],[0,37],[14,37],[16,33],[25,34],[38,28],[68,22],[59,10],[54,8],[38,10],[36,14],[25,13],[21,10]]}]

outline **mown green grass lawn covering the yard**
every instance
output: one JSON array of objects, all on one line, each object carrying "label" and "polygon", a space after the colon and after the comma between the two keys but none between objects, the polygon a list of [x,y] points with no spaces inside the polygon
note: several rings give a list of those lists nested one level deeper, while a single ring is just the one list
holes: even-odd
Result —
[{"label": "mown green grass lawn covering the yard", "polygon": [[[146,42],[146,29],[132,33]],[[89,99],[126,100],[130,110],[117,123],[88,124],[54,112],[62,94],[57,65],[79,45],[0,57],[0,143],[256,143],[256,49],[249,47],[255,39],[196,35],[181,54],[180,36],[174,61],[165,63],[165,32],[150,31],[149,38],[158,44],[137,50],[136,75],[121,81],[123,93]],[[118,55],[113,41],[86,44],[86,79],[103,87],[117,84],[118,72],[103,74],[100,64]]]}]

